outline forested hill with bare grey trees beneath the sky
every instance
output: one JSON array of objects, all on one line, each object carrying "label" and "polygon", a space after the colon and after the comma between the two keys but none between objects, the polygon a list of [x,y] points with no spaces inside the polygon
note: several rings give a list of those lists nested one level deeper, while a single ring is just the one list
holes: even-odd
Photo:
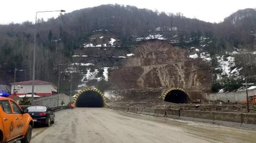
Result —
[{"label": "forested hill with bare grey trees beneath the sky", "polygon": [[[233,48],[255,49],[256,11],[239,10],[221,23],[190,19],[181,13],[166,14],[133,6],[101,5],[60,15],[57,19],[38,19],[36,77],[51,80],[58,63],[69,63],[74,49],[89,41],[95,31],[105,30],[121,41],[121,46],[135,44],[138,39],[160,36],[162,39],[189,48],[206,46],[214,54]],[[32,22],[0,25],[0,82],[13,81],[17,69],[32,75],[32,50],[35,25]],[[202,39],[208,44],[202,45]],[[17,80],[25,80],[18,75]]]}]

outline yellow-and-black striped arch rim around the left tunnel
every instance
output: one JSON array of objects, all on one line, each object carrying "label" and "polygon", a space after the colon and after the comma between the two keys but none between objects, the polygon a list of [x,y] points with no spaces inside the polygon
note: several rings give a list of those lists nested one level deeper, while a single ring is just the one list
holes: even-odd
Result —
[{"label": "yellow-and-black striped arch rim around the left tunnel", "polygon": [[[86,92],[90,92],[90,93],[94,93],[94,94],[97,94],[97,96],[100,96],[103,100],[103,104],[104,106],[103,107],[108,107],[107,104],[106,104],[106,101],[107,101],[107,98],[105,97],[104,93],[102,93],[100,90],[98,89],[95,89],[95,88],[86,88],[86,89],[83,89],[83,90],[80,90],[75,96],[74,96],[74,99],[73,99],[73,104],[76,105],[76,103],[78,103],[78,99],[80,97],[80,95],[83,95],[85,94]],[[81,97],[80,97],[81,98]],[[100,99],[101,100],[101,99]]]}]

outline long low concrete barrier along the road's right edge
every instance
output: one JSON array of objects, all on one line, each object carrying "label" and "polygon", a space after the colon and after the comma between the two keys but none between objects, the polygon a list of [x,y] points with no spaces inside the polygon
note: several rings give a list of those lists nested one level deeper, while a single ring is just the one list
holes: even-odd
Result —
[{"label": "long low concrete barrier along the road's right edge", "polygon": [[226,126],[242,126],[256,129],[256,114],[234,112],[191,111],[179,109],[149,109],[136,107],[109,107],[118,111],[128,111],[158,117],[171,117],[190,121],[201,121]]}]

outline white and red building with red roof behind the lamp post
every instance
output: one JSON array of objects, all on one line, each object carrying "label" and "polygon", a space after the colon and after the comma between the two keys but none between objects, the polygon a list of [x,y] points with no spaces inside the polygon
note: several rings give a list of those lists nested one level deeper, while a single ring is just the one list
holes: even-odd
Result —
[{"label": "white and red building with red roof behind the lamp post", "polygon": [[[18,98],[18,95],[27,95],[32,92],[33,80],[10,83],[12,85],[11,98]],[[34,86],[35,95],[44,97],[57,94],[57,86],[51,82],[45,82],[42,80],[35,80]]]}]

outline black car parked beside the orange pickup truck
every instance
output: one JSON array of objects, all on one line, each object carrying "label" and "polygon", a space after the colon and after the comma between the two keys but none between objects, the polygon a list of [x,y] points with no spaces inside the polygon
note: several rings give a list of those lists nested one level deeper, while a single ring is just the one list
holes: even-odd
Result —
[{"label": "black car parked beside the orange pickup truck", "polygon": [[33,118],[34,124],[50,126],[50,123],[54,123],[55,121],[54,112],[47,106],[30,106],[27,109]]}]

